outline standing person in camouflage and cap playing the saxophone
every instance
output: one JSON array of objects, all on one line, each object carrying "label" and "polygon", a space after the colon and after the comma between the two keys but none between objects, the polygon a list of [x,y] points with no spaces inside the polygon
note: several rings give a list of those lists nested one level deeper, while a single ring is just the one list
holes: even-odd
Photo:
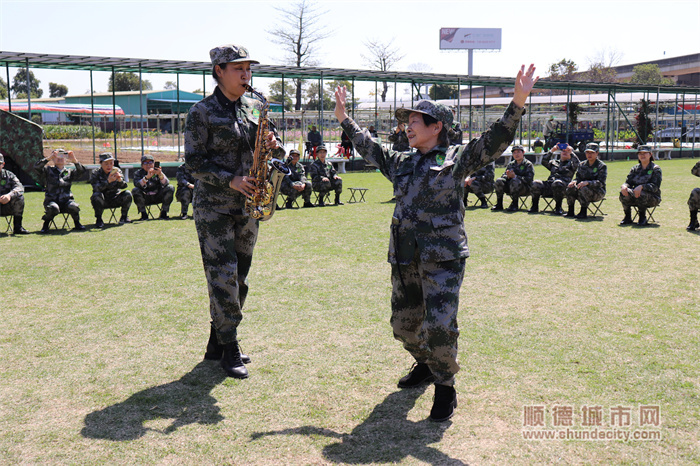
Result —
[{"label": "standing person in camouflage and cap playing the saxophone", "polygon": [[[248,294],[247,276],[258,237],[258,220],[245,211],[255,191],[249,176],[261,103],[244,94],[252,60],[238,45],[209,52],[214,92],[192,106],[185,128],[185,163],[199,180],[195,185],[194,220],[207,278],[211,330],[206,359],[220,359],[230,377],[244,379],[250,359],[238,346],[238,324]],[[284,150],[274,132],[265,146],[275,158]]]}]

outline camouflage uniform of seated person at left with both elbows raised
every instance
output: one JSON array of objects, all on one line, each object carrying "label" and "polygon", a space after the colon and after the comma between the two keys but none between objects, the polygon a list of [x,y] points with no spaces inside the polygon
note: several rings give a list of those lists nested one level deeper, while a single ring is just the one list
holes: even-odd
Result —
[{"label": "camouflage uniform of seated person at left with both elbows raised", "polygon": [[48,159],[41,159],[35,165],[35,170],[43,177],[46,183],[44,195],[45,214],[41,218],[44,222],[50,222],[59,212],[71,214],[73,221],[80,223],[80,206],[73,199],[71,186],[83,173],[85,167],[79,162],[75,163],[75,169],[63,167],[47,167]]}]

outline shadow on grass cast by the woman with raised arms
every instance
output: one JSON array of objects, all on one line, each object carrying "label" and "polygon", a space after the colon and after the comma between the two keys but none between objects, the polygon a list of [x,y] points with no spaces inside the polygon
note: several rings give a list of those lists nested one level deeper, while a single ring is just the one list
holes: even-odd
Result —
[{"label": "shadow on grass cast by the woman with raised arms", "polygon": [[[432,387],[432,385],[429,385]],[[323,449],[323,456],[333,463],[370,464],[398,463],[405,458],[439,465],[465,465],[429,445],[442,440],[451,422],[431,422],[427,418],[408,420],[409,411],[426,387],[401,390],[388,395],[362,424],[349,434],[338,433],[316,426],[301,426],[270,432],[256,432],[251,440],[271,435],[323,436],[339,439]]]}]

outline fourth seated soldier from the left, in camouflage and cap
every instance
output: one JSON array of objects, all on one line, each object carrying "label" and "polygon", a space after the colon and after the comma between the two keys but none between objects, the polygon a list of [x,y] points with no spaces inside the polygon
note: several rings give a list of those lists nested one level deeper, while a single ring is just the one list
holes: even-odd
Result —
[{"label": "fourth seated soldier from the left, in camouflage and cap", "polygon": [[134,204],[141,214],[141,220],[148,220],[146,212],[147,205],[163,204],[160,210],[160,218],[167,220],[170,204],[173,202],[175,188],[170,185],[168,177],[160,168],[160,163],[156,166],[152,155],[141,157],[141,168],[134,173],[134,189],[131,190],[134,196]]}]

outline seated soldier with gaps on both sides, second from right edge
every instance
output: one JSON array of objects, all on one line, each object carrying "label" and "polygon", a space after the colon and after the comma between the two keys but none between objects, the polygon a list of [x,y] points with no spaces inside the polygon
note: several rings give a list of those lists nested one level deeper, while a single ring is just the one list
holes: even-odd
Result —
[{"label": "seated soldier with gaps on both sides, second from right edge", "polygon": [[639,146],[637,158],[639,164],[632,167],[620,189],[620,202],[625,212],[620,225],[632,223],[632,206],[639,210],[638,224],[647,225],[647,209],[661,204],[661,167],[654,163],[651,147]]}]

